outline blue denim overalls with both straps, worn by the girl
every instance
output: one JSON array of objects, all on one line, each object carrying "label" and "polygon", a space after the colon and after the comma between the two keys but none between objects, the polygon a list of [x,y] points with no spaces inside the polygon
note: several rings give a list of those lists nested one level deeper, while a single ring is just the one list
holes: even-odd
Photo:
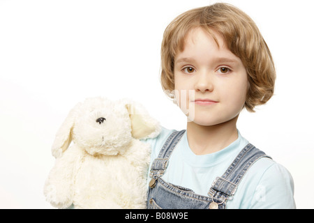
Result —
[{"label": "blue denim overalls with both straps, worn by the girl", "polygon": [[[185,130],[170,134],[158,157],[151,164],[147,208],[149,209],[225,209],[241,179],[251,165],[261,157],[269,157],[252,144],[246,145],[221,177],[212,183],[208,197],[192,190],[165,182],[163,176],[168,160]],[[270,158],[270,157],[269,157]]]}]

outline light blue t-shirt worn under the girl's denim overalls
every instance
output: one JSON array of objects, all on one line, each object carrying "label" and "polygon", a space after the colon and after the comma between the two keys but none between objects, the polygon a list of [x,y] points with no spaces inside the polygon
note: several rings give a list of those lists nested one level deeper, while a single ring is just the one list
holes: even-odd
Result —
[{"label": "light blue t-shirt worn under the girl's denim overalls", "polygon": [[[158,157],[161,147],[174,130],[163,128],[151,144],[151,162]],[[208,196],[217,176],[222,176],[239,152],[248,144],[238,131],[238,139],[216,153],[195,155],[188,145],[186,132],[170,156],[163,180],[189,188],[196,194]],[[148,177],[149,182],[151,180]],[[294,183],[285,167],[269,158],[257,160],[246,172],[226,208],[295,208]]]}]

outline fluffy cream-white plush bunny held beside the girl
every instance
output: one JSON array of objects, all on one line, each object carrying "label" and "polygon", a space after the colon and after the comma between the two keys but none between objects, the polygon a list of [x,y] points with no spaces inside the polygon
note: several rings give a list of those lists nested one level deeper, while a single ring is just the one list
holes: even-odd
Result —
[{"label": "fluffy cream-white plush bunny held beside the girl", "polygon": [[150,146],[140,139],[159,132],[135,102],[87,98],[77,104],[52,146],[47,201],[57,208],[146,208]]}]

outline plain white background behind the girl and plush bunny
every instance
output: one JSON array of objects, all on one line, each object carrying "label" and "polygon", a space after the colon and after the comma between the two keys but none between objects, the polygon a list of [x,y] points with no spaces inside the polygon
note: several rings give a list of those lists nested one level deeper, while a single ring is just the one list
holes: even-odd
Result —
[{"label": "plain white background behind the girl and plush bunny", "polygon": [[[133,98],[165,128],[185,128],[160,87],[160,43],[174,17],[215,2],[0,0],[0,208],[51,208],[50,147],[84,98]],[[225,2],[256,22],[278,75],[274,97],[238,128],[290,171],[297,208],[314,208],[312,1]]]}]

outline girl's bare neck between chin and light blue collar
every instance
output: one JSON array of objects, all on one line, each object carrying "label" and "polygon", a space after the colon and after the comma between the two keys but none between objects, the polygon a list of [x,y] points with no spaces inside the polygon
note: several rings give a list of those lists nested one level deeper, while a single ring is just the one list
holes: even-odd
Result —
[{"label": "girl's bare neck between chin and light blue collar", "polygon": [[186,133],[190,149],[196,155],[220,151],[238,138],[237,118],[218,125],[198,125],[188,122]]}]

